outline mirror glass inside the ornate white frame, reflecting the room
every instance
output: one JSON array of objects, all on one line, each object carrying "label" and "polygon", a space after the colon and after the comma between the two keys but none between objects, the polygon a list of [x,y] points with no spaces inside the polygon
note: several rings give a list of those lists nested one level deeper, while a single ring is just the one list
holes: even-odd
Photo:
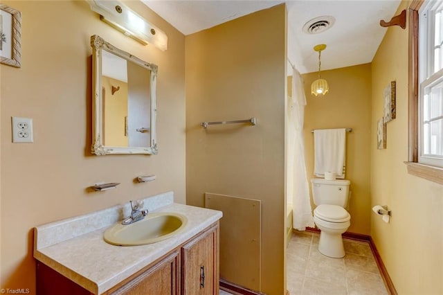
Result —
[{"label": "mirror glass inside the ornate white frame, reflecting the room", "polygon": [[150,145],[150,75],[134,62],[102,52],[104,145]]}]

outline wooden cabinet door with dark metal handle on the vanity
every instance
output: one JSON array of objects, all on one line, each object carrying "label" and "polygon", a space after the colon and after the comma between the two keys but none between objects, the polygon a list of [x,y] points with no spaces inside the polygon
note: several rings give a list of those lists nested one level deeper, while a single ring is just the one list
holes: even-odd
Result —
[{"label": "wooden cabinet door with dark metal handle on the vanity", "polygon": [[182,294],[219,294],[218,222],[181,249]]}]

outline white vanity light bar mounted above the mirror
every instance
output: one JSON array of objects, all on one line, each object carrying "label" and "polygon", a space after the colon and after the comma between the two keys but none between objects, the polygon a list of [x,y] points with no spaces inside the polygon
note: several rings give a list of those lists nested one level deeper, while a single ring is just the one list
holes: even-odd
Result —
[{"label": "white vanity light bar mounted above the mirror", "polygon": [[168,49],[168,36],[119,1],[87,0],[100,19],[143,45],[153,44],[161,51]]}]

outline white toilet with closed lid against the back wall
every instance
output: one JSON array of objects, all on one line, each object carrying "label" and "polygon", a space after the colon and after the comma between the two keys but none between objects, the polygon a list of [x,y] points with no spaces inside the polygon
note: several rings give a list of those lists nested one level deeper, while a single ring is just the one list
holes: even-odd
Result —
[{"label": "white toilet with closed lid against the back wall", "polygon": [[345,256],[341,234],[351,225],[351,215],[345,210],[349,201],[350,181],[346,179],[311,179],[314,204],[314,222],[320,229],[318,251],[325,256]]}]

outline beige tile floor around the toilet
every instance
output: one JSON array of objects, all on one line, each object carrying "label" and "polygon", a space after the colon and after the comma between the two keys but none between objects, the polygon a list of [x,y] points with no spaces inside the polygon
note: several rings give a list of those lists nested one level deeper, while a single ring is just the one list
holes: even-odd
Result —
[{"label": "beige tile floor around the toilet", "polygon": [[293,233],[287,248],[289,294],[388,294],[367,242],[343,239],[344,258],[318,251],[320,234]]}]

